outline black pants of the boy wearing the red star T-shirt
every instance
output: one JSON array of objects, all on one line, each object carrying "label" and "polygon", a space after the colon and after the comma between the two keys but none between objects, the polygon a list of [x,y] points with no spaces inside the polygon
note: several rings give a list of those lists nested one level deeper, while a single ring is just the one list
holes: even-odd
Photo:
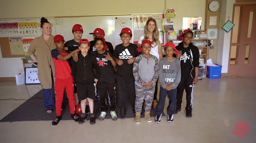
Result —
[{"label": "black pants of the boy wearing the red star T-shirt", "polygon": [[[110,111],[116,111],[116,83],[108,82],[98,82],[99,86],[99,103],[100,103],[100,112],[106,112],[108,105],[106,104],[106,99],[108,99]],[[107,93],[108,92],[108,93]]]}]

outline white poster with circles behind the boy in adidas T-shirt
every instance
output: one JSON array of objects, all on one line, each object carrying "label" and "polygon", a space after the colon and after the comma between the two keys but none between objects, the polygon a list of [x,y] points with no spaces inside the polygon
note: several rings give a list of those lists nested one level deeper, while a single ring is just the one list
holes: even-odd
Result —
[{"label": "white poster with circles behind the boy in adidas T-shirt", "polygon": [[[119,34],[121,30],[125,27],[132,29],[130,27],[132,25],[132,17],[116,17],[115,18],[115,45],[119,45],[122,42]],[[133,43],[132,40],[130,40],[130,43]]]}]

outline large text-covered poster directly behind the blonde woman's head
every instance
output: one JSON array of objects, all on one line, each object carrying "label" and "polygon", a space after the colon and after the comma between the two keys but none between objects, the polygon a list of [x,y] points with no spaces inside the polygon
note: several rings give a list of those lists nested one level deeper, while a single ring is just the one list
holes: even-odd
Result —
[{"label": "large text-covered poster directly behind the blonde woman's head", "polygon": [[132,15],[132,37],[133,43],[138,44],[140,40],[140,36],[143,36],[144,33],[144,26],[149,18],[153,18],[156,20],[156,25],[159,31],[163,31],[162,27],[162,19],[164,14],[142,14],[142,15]]}]

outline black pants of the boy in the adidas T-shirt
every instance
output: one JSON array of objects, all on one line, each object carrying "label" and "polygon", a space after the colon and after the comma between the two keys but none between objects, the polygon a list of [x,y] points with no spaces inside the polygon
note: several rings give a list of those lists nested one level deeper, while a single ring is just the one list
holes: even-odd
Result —
[{"label": "black pants of the boy in the adidas T-shirt", "polygon": [[118,105],[120,108],[126,108],[126,95],[127,92],[130,95],[132,108],[135,107],[135,87],[134,77],[124,78],[120,75],[116,75],[117,82],[117,97],[118,97]]}]

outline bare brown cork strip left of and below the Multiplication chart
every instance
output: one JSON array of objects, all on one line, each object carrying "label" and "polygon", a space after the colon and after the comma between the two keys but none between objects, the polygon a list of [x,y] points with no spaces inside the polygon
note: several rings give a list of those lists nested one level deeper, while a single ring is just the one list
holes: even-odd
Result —
[{"label": "bare brown cork strip left of and below the Multiplication chart", "polygon": [[0,37],[0,47],[1,47],[1,52],[2,52],[2,58],[24,57],[24,54],[22,54],[22,55],[12,55],[11,54],[9,37]]}]

